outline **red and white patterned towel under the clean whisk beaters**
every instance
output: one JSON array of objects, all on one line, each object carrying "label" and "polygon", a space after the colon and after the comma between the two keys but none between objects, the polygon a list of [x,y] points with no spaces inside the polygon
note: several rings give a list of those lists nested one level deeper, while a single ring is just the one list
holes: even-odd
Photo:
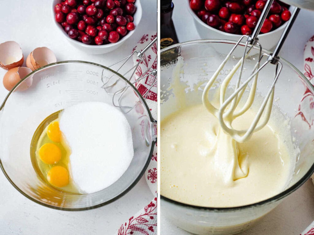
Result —
[{"label": "red and white patterned towel under the clean whisk beaters", "polygon": [[[133,48],[133,51],[141,51],[149,44],[155,37],[156,32],[150,32],[144,34],[139,40],[138,44]],[[134,65],[138,63],[136,55],[133,57]],[[155,43],[144,54],[143,61],[138,66],[134,78],[137,79],[149,68],[157,68],[157,44]],[[138,81],[135,86],[138,91],[143,95],[154,84],[157,77],[146,76],[142,80]],[[157,83],[152,87],[146,96],[145,101],[152,113],[152,116],[157,120]],[[157,130],[155,130],[157,133]],[[127,222],[122,224],[117,232],[117,235],[156,235],[157,234],[157,144],[155,145],[153,155],[149,166],[145,172],[146,182],[152,191],[154,198],[145,206],[142,210],[137,212],[134,216],[130,217]]]}]

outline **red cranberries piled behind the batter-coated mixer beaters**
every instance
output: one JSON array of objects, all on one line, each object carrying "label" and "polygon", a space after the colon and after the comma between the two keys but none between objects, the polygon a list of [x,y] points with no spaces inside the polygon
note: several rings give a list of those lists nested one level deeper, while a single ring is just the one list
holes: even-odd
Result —
[{"label": "red cranberries piled behind the batter-coated mixer beaters", "polygon": [[[191,9],[209,26],[230,34],[252,34],[266,0],[190,0]],[[289,5],[273,1],[261,33],[268,33],[290,19]]]}]

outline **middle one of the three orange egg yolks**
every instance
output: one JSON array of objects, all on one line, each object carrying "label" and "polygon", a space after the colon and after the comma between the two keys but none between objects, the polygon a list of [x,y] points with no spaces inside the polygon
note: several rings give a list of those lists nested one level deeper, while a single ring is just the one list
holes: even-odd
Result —
[{"label": "middle one of the three orange egg yolks", "polygon": [[46,164],[56,164],[61,156],[61,149],[55,144],[44,144],[39,149],[39,157]]}]

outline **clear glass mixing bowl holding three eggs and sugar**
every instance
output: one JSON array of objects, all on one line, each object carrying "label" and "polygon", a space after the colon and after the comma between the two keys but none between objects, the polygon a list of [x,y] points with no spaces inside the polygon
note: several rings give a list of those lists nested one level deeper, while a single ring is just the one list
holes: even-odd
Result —
[{"label": "clear glass mixing bowl holding three eggs and sugar", "polygon": [[[119,89],[124,92],[112,95]],[[50,114],[90,101],[119,104],[117,108],[125,113],[132,129],[134,157],[111,186],[91,194],[66,193],[37,175],[30,159],[30,143],[39,124]],[[103,206],[126,194],[143,175],[156,141],[155,127],[143,97],[122,75],[85,61],[53,63],[21,80],[0,106],[0,166],[20,193],[41,205],[61,210]]]}]

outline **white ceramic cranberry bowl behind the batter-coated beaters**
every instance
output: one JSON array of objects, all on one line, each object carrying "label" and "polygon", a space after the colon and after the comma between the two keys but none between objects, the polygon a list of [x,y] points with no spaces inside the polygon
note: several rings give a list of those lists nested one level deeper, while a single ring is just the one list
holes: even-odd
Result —
[{"label": "white ceramic cranberry bowl behind the batter-coated beaters", "polygon": [[[190,8],[189,0],[186,0],[187,3],[187,9],[189,13],[194,18],[194,24],[198,31],[198,34],[201,36],[201,39],[229,39],[229,40],[235,40],[238,41],[242,35],[238,34],[229,34],[226,32],[222,32],[218,29],[215,29],[213,27],[210,27],[209,25],[205,24],[200,18],[198,18],[197,14],[194,13],[194,11]],[[292,12],[294,7],[290,7],[289,10]],[[276,46],[277,42],[280,39],[281,34],[284,31],[285,26],[287,23],[284,23],[279,28],[268,32],[266,34],[260,34],[258,36],[258,42],[262,45],[265,49],[272,49]]]}]

